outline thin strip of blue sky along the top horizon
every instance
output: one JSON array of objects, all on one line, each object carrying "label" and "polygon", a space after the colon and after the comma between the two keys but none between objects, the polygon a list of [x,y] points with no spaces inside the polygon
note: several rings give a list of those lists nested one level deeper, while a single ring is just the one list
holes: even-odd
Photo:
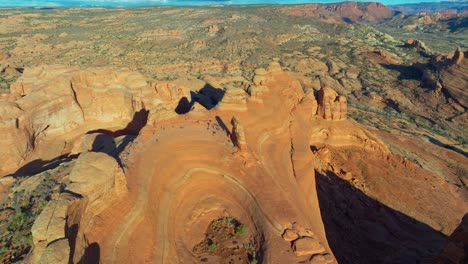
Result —
[{"label": "thin strip of blue sky along the top horizon", "polygon": [[[333,3],[340,0],[0,0],[0,6],[145,6],[145,5],[207,5],[207,4],[300,4]],[[358,2],[369,2],[357,0]],[[380,0],[390,4],[440,2],[440,0]]]}]

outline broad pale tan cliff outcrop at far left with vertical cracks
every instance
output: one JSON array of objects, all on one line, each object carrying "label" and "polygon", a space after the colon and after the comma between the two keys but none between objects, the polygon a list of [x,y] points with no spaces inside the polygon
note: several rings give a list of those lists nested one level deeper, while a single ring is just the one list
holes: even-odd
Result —
[{"label": "broad pale tan cliff outcrop at far left with vertical cracks", "polygon": [[[0,113],[5,113],[0,116],[0,129],[5,130],[1,141],[11,146],[0,150],[9,161],[0,165],[0,172],[28,162],[33,149],[48,152],[48,157],[65,154],[63,146],[89,131],[137,133],[146,123],[137,113],[163,103],[148,96],[154,95],[149,87],[142,75],[128,70],[26,69],[11,85],[11,97],[17,100],[0,105]],[[45,147],[42,142],[48,140],[62,141],[62,147]]]}]

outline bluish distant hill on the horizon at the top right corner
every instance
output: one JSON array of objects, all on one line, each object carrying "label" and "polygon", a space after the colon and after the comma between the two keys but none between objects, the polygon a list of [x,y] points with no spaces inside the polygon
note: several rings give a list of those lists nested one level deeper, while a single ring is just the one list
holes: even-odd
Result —
[{"label": "bluish distant hill on the horizon at the top right corner", "polygon": [[407,14],[420,12],[443,12],[456,11],[457,13],[468,13],[468,1],[444,1],[444,2],[424,2],[417,4],[389,5],[392,9]]}]

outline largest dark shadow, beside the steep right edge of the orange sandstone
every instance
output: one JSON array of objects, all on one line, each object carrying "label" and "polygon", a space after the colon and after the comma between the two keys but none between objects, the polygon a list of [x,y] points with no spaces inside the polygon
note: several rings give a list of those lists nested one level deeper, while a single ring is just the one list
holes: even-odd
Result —
[{"label": "largest dark shadow, beside the steep right edge of the orange sandstone", "polygon": [[328,243],[338,263],[425,263],[446,236],[367,196],[333,173],[316,172]]}]

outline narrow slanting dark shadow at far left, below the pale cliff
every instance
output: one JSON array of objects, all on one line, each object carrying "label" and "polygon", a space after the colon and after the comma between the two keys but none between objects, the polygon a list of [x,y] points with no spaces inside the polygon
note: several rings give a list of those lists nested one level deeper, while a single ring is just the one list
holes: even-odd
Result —
[{"label": "narrow slanting dark shadow at far left, below the pale cliff", "polygon": [[51,160],[42,160],[36,159],[33,160],[21,168],[19,168],[15,173],[12,174],[13,177],[25,177],[34,174],[38,174],[44,172],[46,170],[50,170],[60,166],[60,164],[64,162],[72,161],[73,159],[77,158],[78,155],[61,155]]}]

